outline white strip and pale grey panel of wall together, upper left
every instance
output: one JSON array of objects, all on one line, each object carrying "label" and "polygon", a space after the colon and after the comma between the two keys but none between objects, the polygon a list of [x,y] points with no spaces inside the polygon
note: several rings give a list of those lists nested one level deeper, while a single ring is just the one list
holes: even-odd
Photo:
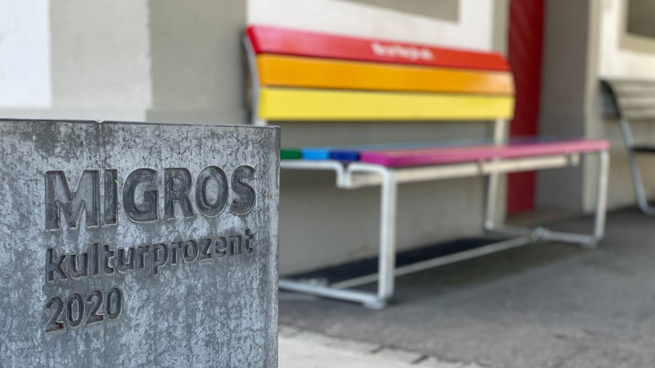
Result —
[{"label": "white strip and pale grey panel of wall together, upper left", "polygon": [[147,0],[0,0],[0,117],[144,120]]}]

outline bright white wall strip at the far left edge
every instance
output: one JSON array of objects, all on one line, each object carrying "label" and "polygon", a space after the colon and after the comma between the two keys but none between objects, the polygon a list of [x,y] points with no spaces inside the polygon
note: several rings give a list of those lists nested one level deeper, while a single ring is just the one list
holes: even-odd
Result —
[{"label": "bright white wall strip at the far left edge", "polygon": [[0,107],[50,105],[48,0],[0,0]]}]

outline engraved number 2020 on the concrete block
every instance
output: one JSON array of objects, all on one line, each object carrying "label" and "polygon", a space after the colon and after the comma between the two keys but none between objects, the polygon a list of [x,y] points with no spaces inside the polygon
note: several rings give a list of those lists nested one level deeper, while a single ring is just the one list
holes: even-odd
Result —
[{"label": "engraved number 2020 on the concrete block", "polygon": [[105,318],[115,320],[121,316],[122,305],[123,295],[118,287],[112,287],[106,295],[100,290],[94,290],[86,296],[74,293],[65,301],[62,297],[52,297],[45,302],[45,309],[53,311],[45,331],[60,331],[65,328],[65,325],[69,327],[79,327],[83,323],[92,325],[103,322]]}]

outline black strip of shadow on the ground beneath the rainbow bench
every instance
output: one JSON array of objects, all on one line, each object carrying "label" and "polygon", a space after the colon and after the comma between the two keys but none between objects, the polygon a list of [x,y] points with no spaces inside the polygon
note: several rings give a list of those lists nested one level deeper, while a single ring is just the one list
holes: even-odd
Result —
[{"label": "black strip of shadow on the ground beneath the rainbow bench", "polygon": [[[443,257],[444,255],[459,253],[461,251],[467,251],[474,248],[480,248],[495,242],[498,242],[498,239],[470,238],[453,240],[452,242],[441,243],[434,246],[402,251],[396,253],[396,267],[403,267],[413,263],[425,261],[427,259]],[[352,278],[358,278],[360,276],[377,273],[377,261],[377,257],[371,257],[362,259],[360,261],[345,263],[343,265],[322,268],[320,270],[304,272],[301,274],[294,274],[289,276],[289,278],[305,280],[324,279],[328,280],[329,284],[333,284],[335,282],[341,282],[344,280],[350,280]]]}]

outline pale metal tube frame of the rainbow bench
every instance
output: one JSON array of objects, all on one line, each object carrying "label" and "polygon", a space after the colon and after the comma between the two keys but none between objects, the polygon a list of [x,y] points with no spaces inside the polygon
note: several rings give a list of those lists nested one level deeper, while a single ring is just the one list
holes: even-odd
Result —
[{"label": "pale metal tube frame of the rainbow bench", "polygon": [[[258,83],[259,77],[255,52],[247,36],[244,36],[243,41],[250,71],[250,88],[252,88],[252,124],[255,126],[265,126],[268,123],[267,120],[259,118],[257,113],[257,107],[259,106],[257,98],[259,96],[260,86]],[[493,124],[493,139],[496,144],[503,144],[507,121],[496,119]],[[406,168],[388,168],[383,165],[365,162],[344,164],[337,160],[282,160],[280,161],[281,169],[328,170],[335,172],[336,185],[339,189],[358,189],[379,185],[381,187],[381,193],[379,261],[378,272],[376,274],[369,274],[327,286],[282,278],[279,280],[279,287],[282,290],[362,303],[369,308],[381,309],[386,306],[394,295],[394,280],[396,276],[403,274],[531,244],[537,240],[555,240],[580,244],[585,248],[595,248],[599,240],[603,238],[605,231],[609,155],[607,150],[594,153],[599,155],[599,174],[593,234],[557,232],[543,227],[537,227],[536,229],[508,227],[504,224],[496,225],[493,220],[496,210],[496,191],[498,191],[501,174],[578,166],[580,164],[580,153]],[[512,234],[518,237],[489,244],[481,248],[427,259],[419,263],[396,268],[396,203],[398,198],[398,184],[485,175],[488,176],[488,179],[486,183],[487,198],[484,229],[490,232]],[[377,291],[375,293],[360,289],[350,289],[351,287],[369,284],[371,282],[377,282]]]}]

